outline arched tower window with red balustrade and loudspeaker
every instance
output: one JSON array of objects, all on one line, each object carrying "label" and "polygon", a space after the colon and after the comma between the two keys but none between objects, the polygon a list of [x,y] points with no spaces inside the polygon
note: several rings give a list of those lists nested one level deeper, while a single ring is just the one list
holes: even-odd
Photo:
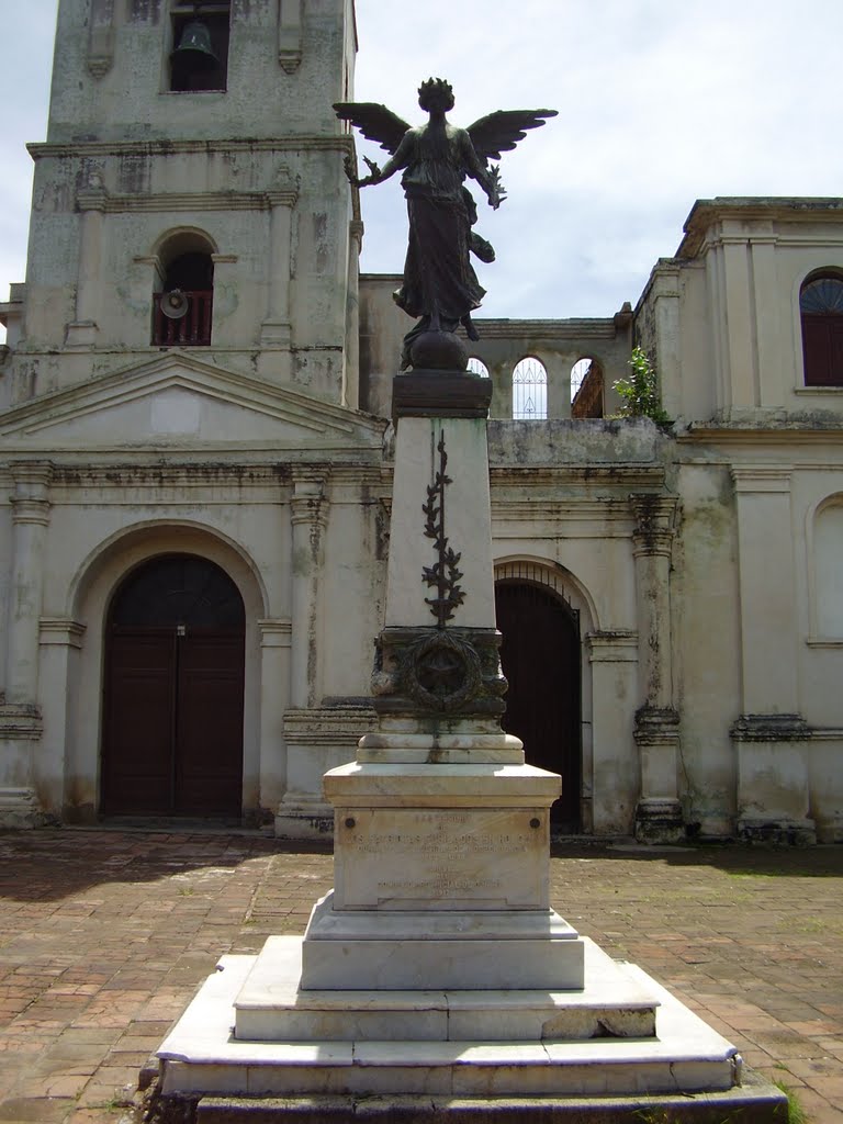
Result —
[{"label": "arched tower window with red balustrade and loudspeaker", "polygon": [[185,232],[160,251],[161,290],[153,293],[152,342],[160,347],[208,347],[214,314],[212,246]]}]

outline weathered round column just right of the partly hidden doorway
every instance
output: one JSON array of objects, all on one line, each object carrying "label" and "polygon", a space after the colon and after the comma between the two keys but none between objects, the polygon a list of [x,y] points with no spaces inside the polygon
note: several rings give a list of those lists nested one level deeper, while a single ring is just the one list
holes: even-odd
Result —
[{"label": "weathered round column just right of the partly hidden doorway", "polygon": [[638,679],[643,704],[635,715],[641,795],[635,835],[644,842],[685,837],[679,801],[679,715],[673,706],[670,560],[677,501],[649,493],[631,497],[638,606]]}]

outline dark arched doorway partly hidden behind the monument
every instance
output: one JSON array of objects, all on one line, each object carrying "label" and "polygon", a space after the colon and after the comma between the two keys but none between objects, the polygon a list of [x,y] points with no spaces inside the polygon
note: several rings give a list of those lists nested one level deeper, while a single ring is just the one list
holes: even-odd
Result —
[{"label": "dark arched doorway partly hidden behind the monument", "polygon": [[496,582],[495,606],[509,683],[504,729],[524,742],[527,764],[562,774],[562,796],[551,819],[558,831],[579,832],[579,615],[547,586],[513,578]]}]

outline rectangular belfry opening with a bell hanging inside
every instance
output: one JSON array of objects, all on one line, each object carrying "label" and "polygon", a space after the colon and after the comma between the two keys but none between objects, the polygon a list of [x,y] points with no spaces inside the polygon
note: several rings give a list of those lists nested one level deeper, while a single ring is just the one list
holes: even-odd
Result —
[{"label": "rectangular belfry opening with a bell hanging inside", "polygon": [[198,0],[171,7],[170,89],[175,93],[220,91],[228,84],[228,0]]}]

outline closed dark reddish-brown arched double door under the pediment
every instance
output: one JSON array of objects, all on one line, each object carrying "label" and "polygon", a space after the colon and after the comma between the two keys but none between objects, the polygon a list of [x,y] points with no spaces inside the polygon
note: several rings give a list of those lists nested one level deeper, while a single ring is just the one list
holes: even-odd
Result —
[{"label": "closed dark reddish-brown arched double door under the pediment", "polygon": [[241,815],[244,637],[239,591],[207,559],[164,555],[125,579],[106,635],[106,815]]}]

